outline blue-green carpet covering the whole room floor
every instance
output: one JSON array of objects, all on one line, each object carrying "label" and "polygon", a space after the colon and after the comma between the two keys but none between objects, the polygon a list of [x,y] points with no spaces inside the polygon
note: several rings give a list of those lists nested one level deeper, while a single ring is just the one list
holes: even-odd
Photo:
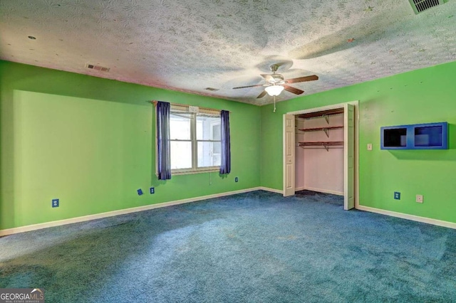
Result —
[{"label": "blue-green carpet covering the whole room floor", "polygon": [[254,191],[0,238],[46,302],[456,302],[456,230]]}]

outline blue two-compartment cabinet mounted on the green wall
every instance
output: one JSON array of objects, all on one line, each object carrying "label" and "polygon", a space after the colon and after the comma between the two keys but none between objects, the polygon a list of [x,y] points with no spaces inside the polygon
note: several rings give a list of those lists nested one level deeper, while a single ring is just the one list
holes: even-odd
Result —
[{"label": "blue two-compartment cabinet mounted on the green wall", "polygon": [[380,127],[380,149],[448,149],[448,123]]}]

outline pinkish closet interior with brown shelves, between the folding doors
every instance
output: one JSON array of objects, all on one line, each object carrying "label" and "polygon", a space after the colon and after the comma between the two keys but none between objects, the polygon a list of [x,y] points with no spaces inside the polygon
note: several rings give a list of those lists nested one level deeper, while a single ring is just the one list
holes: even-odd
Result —
[{"label": "pinkish closet interior with brown shelves, between the folding doors", "polygon": [[[296,115],[295,118],[296,191],[307,189],[343,195],[343,112],[326,118],[315,116],[303,118]],[[326,127],[328,129],[323,130]],[[321,145],[302,146],[303,142]]]}]

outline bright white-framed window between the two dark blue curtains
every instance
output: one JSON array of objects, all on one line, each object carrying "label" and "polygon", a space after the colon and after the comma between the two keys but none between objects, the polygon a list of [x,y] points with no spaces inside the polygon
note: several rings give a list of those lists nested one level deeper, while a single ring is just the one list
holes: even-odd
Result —
[{"label": "bright white-framed window between the two dark blue curtains", "polygon": [[171,105],[170,149],[174,174],[218,171],[221,162],[221,120],[217,110],[189,112]]}]

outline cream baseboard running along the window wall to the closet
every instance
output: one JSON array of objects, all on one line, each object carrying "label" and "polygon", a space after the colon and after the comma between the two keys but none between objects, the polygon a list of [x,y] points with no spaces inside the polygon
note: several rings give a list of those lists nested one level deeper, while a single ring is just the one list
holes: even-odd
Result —
[{"label": "cream baseboard running along the window wall to the closet", "polygon": [[9,228],[9,229],[0,230],[0,236],[12,235],[14,233],[24,233],[26,231],[38,230],[38,229],[42,229],[42,228],[50,228],[50,227],[54,227],[54,226],[66,225],[66,224],[71,224],[71,223],[79,223],[79,222],[84,222],[84,221],[88,221],[88,220],[120,216],[120,215],[125,215],[127,213],[136,213],[138,211],[148,211],[150,209],[155,209],[155,208],[162,208],[162,207],[173,206],[173,205],[178,205],[178,204],[190,203],[190,202],[201,201],[201,200],[206,200],[206,199],[210,199],[210,198],[231,196],[231,195],[234,195],[237,193],[247,193],[249,191],[259,191],[261,189],[264,191],[268,191],[269,189],[270,189],[270,191],[276,191],[275,189],[272,189],[272,188],[266,189],[266,188],[262,188],[260,186],[253,187],[253,188],[247,188],[247,189],[241,189],[239,191],[227,191],[226,193],[215,193],[213,195],[199,196],[199,197],[195,197],[195,198],[187,198],[187,199],[170,201],[170,202],[165,202],[165,203],[157,203],[157,204],[152,204],[152,205],[147,205],[147,206],[125,208],[125,209],[120,209],[118,211],[108,211],[106,213],[95,213],[94,215],[69,218],[69,219],[64,219],[64,220],[56,220],[56,221],[38,223],[38,224],[33,224],[33,225],[26,225],[26,226],[21,226],[18,228]]}]

